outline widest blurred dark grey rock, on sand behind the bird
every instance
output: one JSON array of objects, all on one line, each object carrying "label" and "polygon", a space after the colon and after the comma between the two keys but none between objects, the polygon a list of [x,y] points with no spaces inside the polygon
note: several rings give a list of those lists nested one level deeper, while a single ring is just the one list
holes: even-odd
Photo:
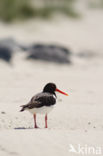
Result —
[{"label": "widest blurred dark grey rock, on sand behind the bird", "polygon": [[71,52],[57,45],[35,44],[29,49],[27,59],[43,60],[55,63],[71,63]]}]

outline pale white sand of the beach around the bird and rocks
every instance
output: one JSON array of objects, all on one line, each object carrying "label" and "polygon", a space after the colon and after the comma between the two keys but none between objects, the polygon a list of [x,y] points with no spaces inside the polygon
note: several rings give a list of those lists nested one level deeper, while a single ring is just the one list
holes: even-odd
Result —
[{"label": "pale white sand of the beach around the bird and rocks", "polygon": [[[69,144],[101,146],[103,155],[103,13],[86,13],[80,21],[67,19],[26,25],[0,24],[0,38],[14,37],[20,42],[62,43],[74,54],[89,49],[93,59],[72,57],[73,65],[23,61],[15,55],[13,65],[0,61],[0,156],[72,156]],[[58,94],[50,113],[48,129],[44,116],[37,116],[41,129],[33,129],[33,118],[19,112],[19,106],[47,82],[55,82],[69,97]],[[82,155],[82,154],[79,154]],[[91,154],[92,155],[92,154]]]}]

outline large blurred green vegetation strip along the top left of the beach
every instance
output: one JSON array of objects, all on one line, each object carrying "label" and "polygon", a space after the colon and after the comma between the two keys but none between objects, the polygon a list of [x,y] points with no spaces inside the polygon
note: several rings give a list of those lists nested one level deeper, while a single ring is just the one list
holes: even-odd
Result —
[{"label": "large blurred green vegetation strip along the top left of the beach", "polygon": [[[31,17],[47,18],[56,12],[77,17],[74,9],[75,0],[0,0],[0,19],[11,22]],[[41,5],[42,4],[42,5]]]}]

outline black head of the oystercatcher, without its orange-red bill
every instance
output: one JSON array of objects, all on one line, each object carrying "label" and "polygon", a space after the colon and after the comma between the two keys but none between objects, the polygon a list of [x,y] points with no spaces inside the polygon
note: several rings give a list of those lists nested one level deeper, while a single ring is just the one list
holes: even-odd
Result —
[{"label": "black head of the oystercatcher, without its orange-red bill", "polygon": [[43,92],[48,92],[48,93],[52,93],[55,94],[56,91],[56,85],[54,83],[48,83],[45,85]]}]

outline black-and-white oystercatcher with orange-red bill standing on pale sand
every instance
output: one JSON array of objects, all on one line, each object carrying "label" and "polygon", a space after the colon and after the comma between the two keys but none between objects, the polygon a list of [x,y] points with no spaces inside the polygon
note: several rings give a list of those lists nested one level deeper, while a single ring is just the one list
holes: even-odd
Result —
[{"label": "black-and-white oystercatcher with orange-red bill standing on pale sand", "polygon": [[36,94],[32,97],[30,102],[26,105],[22,105],[21,112],[24,110],[28,110],[30,113],[33,114],[34,117],[34,128],[38,128],[36,123],[36,114],[45,114],[45,128],[48,127],[47,125],[47,115],[53,109],[53,106],[56,104],[56,93],[59,92],[68,96],[68,94],[62,92],[61,90],[57,89],[54,83],[48,83],[45,85],[43,91],[41,93]]}]

